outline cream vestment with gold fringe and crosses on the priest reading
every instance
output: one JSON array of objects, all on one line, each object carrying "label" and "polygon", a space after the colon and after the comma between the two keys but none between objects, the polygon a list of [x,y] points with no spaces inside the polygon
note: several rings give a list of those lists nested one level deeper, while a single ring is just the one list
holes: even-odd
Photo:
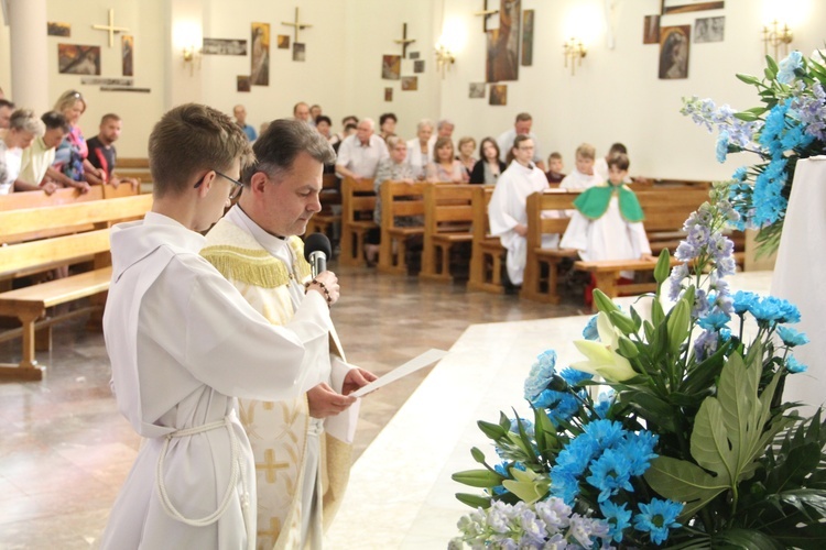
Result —
[{"label": "cream vestment with gold fringe and crosses on the priest reading", "polygon": [[[233,206],[202,250],[273,324],[290,322],[305,299],[309,264],[298,237],[276,238]],[[335,330],[318,354],[324,382],[341,392],[349,365]],[[239,399],[256,459],[259,549],[319,549],[323,528],[341,503],[359,404],[326,420],[311,418],[304,395],[290,400]],[[327,429],[325,431],[325,428]]]}]

